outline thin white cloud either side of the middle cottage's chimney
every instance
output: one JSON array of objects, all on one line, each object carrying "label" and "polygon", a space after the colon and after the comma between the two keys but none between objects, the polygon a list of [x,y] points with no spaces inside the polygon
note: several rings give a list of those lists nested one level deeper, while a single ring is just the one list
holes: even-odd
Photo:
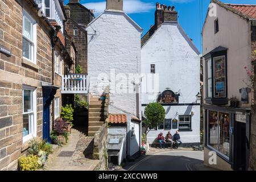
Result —
[{"label": "thin white cloud either side of the middle cottage's chimney", "polygon": [[[94,9],[96,15],[106,9],[106,1],[84,3],[83,5],[88,9]],[[123,1],[123,9],[127,14],[145,13],[155,9],[155,5],[154,3],[143,2],[141,0],[126,0]]]}]

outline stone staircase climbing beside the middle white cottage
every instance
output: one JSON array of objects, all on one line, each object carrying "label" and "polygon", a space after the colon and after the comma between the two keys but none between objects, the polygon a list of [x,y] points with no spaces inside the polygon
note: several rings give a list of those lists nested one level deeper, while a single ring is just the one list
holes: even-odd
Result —
[{"label": "stone staircase climbing beside the middle white cottage", "polygon": [[88,127],[89,136],[94,136],[94,134],[104,124],[105,122],[104,106],[105,106],[105,101],[100,101],[98,97],[90,98],[89,127]]}]

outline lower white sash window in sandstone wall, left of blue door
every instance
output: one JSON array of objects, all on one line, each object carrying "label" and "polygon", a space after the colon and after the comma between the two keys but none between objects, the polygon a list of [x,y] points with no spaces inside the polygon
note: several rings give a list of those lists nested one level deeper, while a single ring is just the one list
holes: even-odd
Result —
[{"label": "lower white sash window in sandstone wall, left of blue door", "polygon": [[23,88],[23,142],[36,137],[36,93],[35,89]]}]

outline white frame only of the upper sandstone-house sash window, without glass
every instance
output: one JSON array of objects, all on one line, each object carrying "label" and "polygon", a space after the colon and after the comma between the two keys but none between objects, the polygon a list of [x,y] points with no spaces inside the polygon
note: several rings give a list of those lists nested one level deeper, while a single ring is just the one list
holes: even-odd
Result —
[{"label": "white frame only of the upper sandstone-house sash window, without glass", "polygon": [[[31,26],[31,33],[32,33],[32,40],[27,38],[25,35],[24,35],[24,20],[25,18],[27,18],[28,20],[30,20],[32,26]],[[30,49],[30,57],[31,59],[28,59],[27,57],[24,57],[23,56],[23,48],[22,48],[22,56],[23,56],[23,59],[26,59],[28,61],[31,61],[32,63],[36,64],[36,35],[37,35],[37,31],[36,31],[36,21],[27,13],[27,11],[23,10],[23,25],[22,25],[22,37],[24,39],[26,39],[28,42],[31,43],[31,49]]]}]

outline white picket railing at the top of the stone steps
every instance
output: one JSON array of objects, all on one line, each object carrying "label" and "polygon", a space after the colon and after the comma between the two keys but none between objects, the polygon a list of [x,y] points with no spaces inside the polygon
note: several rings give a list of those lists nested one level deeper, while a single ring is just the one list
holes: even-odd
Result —
[{"label": "white picket railing at the top of the stone steps", "polygon": [[88,93],[89,80],[86,75],[65,75],[62,77],[61,93]]}]

